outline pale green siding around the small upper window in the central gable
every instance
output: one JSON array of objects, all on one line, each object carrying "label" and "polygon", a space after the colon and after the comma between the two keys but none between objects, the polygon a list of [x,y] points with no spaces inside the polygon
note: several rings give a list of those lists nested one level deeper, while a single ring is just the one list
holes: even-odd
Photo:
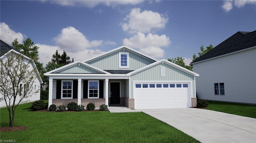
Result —
[{"label": "pale green siding around the small upper window in the central gable", "polygon": [[[119,68],[118,64],[120,52],[129,53],[129,68]],[[98,59],[88,61],[86,63],[103,70],[136,70],[145,67],[146,65],[149,65],[151,63],[154,63],[154,61],[146,57],[137,55],[131,51],[121,49]]]}]

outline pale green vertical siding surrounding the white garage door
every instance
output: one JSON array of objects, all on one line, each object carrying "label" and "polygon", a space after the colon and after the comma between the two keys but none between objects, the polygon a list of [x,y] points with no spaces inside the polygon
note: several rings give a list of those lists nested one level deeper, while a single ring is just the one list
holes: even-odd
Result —
[{"label": "pale green vertical siding surrounding the white garage door", "polygon": [[[166,68],[166,76],[161,76],[161,67]],[[192,82],[192,97],[195,97],[194,95],[194,76],[184,72],[180,69],[177,69],[176,67],[172,67],[171,65],[168,65],[166,63],[162,64],[159,63],[157,65],[154,65],[148,69],[144,69],[143,71],[137,72],[135,74],[131,75],[130,78],[130,84],[131,84],[131,93],[133,93],[133,81],[191,81]],[[132,95],[132,94],[131,94]],[[133,95],[132,97],[133,98]]]}]

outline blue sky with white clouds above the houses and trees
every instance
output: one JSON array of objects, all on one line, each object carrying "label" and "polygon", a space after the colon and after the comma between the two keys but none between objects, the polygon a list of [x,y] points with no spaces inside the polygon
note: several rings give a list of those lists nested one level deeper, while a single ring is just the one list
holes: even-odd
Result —
[{"label": "blue sky with white clouds above the houses and trees", "polygon": [[201,45],[256,30],[256,0],[1,0],[0,22],[3,41],[31,38],[44,65],[56,50],[83,61],[122,45],[188,64]]}]

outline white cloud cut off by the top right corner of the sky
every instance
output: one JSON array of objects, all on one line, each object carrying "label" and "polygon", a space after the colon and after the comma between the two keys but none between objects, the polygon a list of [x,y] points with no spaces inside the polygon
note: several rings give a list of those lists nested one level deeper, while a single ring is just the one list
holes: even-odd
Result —
[{"label": "white cloud cut off by the top right corner of the sky", "polygon": [[238,8],[241,8],[246,4],[256,4],[256,0],[224,0],[222,9],[226,12],[229,12],[230,10],[232,10],[233,5]]}]

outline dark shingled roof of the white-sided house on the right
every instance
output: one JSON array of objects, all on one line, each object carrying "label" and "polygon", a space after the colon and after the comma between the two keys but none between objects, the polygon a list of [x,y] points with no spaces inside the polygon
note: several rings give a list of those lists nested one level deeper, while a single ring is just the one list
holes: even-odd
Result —
[{"label": "dark shingled roof of the white-sided house on the right", "polygon": [[238,31],[237,33],[214,47],[212,50],[208,51],[207,53],[196,59],[196,61],[192,62],[191,64],[221,55],[226,55],[228,53],[248,49],[254,46],[256,46],[256,31]]}]

